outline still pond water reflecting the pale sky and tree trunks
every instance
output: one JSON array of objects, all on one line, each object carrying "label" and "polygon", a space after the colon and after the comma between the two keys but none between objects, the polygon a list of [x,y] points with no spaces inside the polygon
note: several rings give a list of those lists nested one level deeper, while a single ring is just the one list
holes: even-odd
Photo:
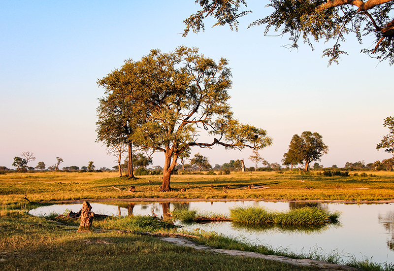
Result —
[{"label": "still pond water reflecting the pale sky and tree trunks", "polygon": [[[91,203],[92,211],[107,215],[152,215],[159,217],[163,210],[190,208],[202,213],[229,214],[235,206],[264,206],[271,210],[289,210],[305,205],[318,206],[330,212],[339,211],[340,224],[329,225],[320,229],[286,229],[268,227],[252,229],[235,225],[232,222],[212,222],[190,224],[182,229],[213,231],[225,236],[235,237],[252,244],[268,244],[273,248],[288,249],[296,253],[308,253],[313,250],[324,254],[337,252],[342,259],[354,255],[361,260],[365,257],[376,263],[394,263],[394,204],[345,204],[345,203],[282,203],[282,202],[185,202],[185,203]],[[50,213],[62,214],[66,209],[79,211],[82,204],[64,204],[43,206],[30,211],[32,215],[44,216]],[[164,212],[165,213],[165,212]],[[181,229],[181,230],[182,230]]]}]

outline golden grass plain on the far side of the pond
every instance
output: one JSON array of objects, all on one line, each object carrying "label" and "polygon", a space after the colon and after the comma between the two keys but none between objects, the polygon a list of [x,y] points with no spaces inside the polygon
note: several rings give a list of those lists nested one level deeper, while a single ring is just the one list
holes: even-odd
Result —
[{"label": "golden grass plain on the far side of the pond", "polygon": [[[2,205],[24,202],[25,194],[33,202],[133,198],[305,201],[394,199],[394,172],[363,172],[368,176],[326,177],[313,172],[303,175],[287,171],[281,174],[272,171],[230,175],[173,175],[173,192],[159,192],[162,180],[158,175],[139,176],[134,180],[118,178],[116,172],[8,173],[0,175],[0,202]],[[252,184],[254,187],[247,189]],[[136,192],[127,192],[131,186],[135,186]],[[258,189],[253,189],[257,186]],[[179,192],[181,188],[186,188],[186,192]]]}]

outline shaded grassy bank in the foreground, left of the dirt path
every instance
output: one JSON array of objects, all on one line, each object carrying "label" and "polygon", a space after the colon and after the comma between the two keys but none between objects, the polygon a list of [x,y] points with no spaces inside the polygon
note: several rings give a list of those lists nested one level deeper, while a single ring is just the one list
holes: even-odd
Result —
[{"label": "shaded grassy bank in the foreground, left of the dirt path", "polygon": [[[129,219],[131,222],[132,218]],[[77,233],[76,229],[33,217],[25,211],[4,208],[0,211],[0,240],[0,270],[7,271],[316,271],[261,259],[197,251],[155,237],[116,231]]]}]

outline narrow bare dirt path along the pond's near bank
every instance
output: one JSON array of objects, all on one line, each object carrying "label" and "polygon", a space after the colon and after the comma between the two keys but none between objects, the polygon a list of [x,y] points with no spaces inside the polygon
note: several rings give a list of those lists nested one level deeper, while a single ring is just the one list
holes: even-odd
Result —
[{"label": "narrow bare dirt path along the pond's near bank", "polygon": [[182,237],[161,237],[160,239],[162,239],[166,242],[173,243],[175,245],[179,245],[179,246],[193,247],[194,249],[197,249],[197,250],[206,250],[206,251],[210,251],[210,252],[214,252],[214,253],[228,254],[231,256],[260,258],[260,259],[264,259],[264,260],[276,261],[276,262],[291,264],[291,265],[295,265],[295,266],[316,267],[322,271],[360,271],[359,269],[356,269],[356,268],[343,266],[343,265],[331,264],[331,263],[323,262],[323,261],[315,261],[315,260],[309,260],[309,259],[299,260],[299,259],[287,258],[284,256],[265,255],[265,254],[260,254],[257,252],[218,249],[218,248],[213,248],[213,247],[206,246],[206,245],[198,245],[198,244],[196,244],[186,238],[182,238]]}]

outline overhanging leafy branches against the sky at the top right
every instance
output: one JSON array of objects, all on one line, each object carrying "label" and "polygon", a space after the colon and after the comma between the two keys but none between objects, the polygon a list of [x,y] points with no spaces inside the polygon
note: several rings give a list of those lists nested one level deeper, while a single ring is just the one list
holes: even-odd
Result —
[{"label": "overhanging leafy branches against the sky at the top right", "polygon": [[[231,30],[238,28],[238,19],[252,11],[244,10],[246,0],[196,0],[201,6],[184,23],[184,36],[193,32],[204,31],[203,20],[214,17],[216,25],[229,25]],[[301,39],[312,47],[312,42],[323,40],[331,42],[331,47],[324,50],[323,56],[329,57],[329,64],[338,63],[341,54],[340,43],[346,35],[354,33],[362,42],[364,36],[374,35],[375,46],[362,52],[380,60],[389,60],[394,64],[394,0],[267,0],[267,7],[273,12],[249,27],[265,25],[264,35],[273,29],[279,36],[289,35],[291,48],[298,47]]]}]

